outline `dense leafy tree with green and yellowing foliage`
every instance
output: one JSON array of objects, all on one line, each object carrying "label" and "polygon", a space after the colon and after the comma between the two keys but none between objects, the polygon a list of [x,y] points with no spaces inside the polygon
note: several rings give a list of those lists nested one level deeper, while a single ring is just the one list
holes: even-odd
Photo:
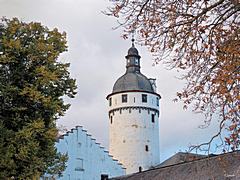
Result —
[{"label": "dense leafy tree with green and yellowing foliage", "polygon": [[35,179],[66,160],[54,146],[56,120],[70,106],[63,97],[76,94],[69,64],[57,60],[66,50],[57,29],[1,19],[0,179]]}]

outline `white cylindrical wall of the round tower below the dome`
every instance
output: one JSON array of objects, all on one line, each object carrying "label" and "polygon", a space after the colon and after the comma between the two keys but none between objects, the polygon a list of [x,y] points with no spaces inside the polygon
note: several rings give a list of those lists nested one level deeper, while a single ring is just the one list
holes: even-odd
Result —
[{"label": "white cylindrical wall of the round tower below the dome", "polygon": [[[122,103],[123,94],[128,96],[126,103]],[[147,103],[142,102],[142,94],[147,95]],[[138,172],[139,167],[147,170],[159,164],[158,96],[146,92],[128,92],[113,94],[110,98],[110,154],[126,167],[127,174]]]}]

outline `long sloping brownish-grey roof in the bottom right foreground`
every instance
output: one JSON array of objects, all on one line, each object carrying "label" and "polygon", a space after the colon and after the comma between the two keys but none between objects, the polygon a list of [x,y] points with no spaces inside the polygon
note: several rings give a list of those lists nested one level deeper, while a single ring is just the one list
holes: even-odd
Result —
[{"label": "long sloping brownish-grey roof in the bottom right foreground", "polygon": [[153,168],[113,180],[239,180],[240,151]]}]

